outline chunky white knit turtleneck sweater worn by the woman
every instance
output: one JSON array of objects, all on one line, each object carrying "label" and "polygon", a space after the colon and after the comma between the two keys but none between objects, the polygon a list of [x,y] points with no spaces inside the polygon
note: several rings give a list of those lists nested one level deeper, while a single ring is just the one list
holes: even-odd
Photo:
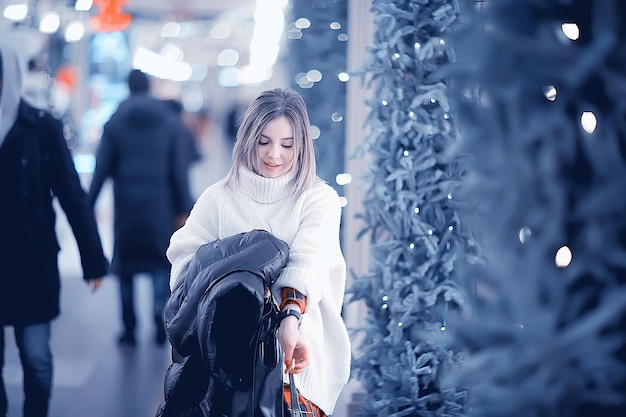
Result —
[{"label": "chunky white knit turtleneck sweater worn by the woman", "polygon": [[273,294],[292,287],[307,297],[300,332],[311,364],[296,375],[300,393],[327,415],[335,408],[350,374],[350,340],[341,317],[346,265],[339,244],[341,206],[335,190],[321,180],[296,196],[293,175],[265,178],[242,169],[240,185],[226,181],[207,188],[185,225],[171,238],[170,286],[203,244],[252,229],[263,229],[289,245],[289,261]]}]

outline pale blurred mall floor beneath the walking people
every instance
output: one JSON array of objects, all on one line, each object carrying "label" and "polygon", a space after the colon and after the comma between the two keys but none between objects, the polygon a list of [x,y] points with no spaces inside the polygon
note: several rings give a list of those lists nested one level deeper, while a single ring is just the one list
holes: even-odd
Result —
[{"label": "pale blurred mall floor beneath the walking people", "polygon": [[[52,324],[54,389],[49,417],[150,417],[163,399],[170,347],[154,341],[151,285],[139,276],[137,345],[120,346],[117,282],[92,294],[72,274],[63,278],[62,314]],[[11,328],[5,328],[7,417],[22,416],[22,372]]]}]

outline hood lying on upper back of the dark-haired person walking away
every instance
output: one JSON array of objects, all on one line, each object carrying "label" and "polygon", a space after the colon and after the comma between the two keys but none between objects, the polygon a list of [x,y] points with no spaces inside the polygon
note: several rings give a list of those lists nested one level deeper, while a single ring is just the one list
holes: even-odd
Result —
[{"label": "hood lying on upper back of the dark-haired person walking away", "polygon": [[129,127],[142,127],[171,116],[172,112],[161,100],[148,94],[133,94],[120,103],[114,120]]}]

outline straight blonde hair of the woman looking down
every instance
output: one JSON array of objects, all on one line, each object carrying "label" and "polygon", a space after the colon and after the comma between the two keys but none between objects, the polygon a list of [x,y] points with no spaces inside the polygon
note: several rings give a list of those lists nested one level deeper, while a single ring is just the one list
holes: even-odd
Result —
[{"label": "straight blonde hair of the woman looking down", "polygon": [[293,129],[296,193],[309,188],[316,177],[315,149],[309,134],[309,115],[302,96],[291,88],[264,91],[255,98],[243,115],[237,140],[233,147],[233,164],[227,175],[228,183],[239,182],[239,168],[255,171],[256,146],[267,124],[285,116]]}]

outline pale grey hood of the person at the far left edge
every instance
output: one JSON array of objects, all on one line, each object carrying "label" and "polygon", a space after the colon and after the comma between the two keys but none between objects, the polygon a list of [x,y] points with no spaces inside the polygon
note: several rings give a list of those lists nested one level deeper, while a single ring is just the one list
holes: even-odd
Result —
[{"label": "pale grey hood of the person at the far left edge", "polygon": [[6,43],[0,42],[2,58],[0,90],[0,146],[17,119],[22,92],[22,69],[17,53]]}]

